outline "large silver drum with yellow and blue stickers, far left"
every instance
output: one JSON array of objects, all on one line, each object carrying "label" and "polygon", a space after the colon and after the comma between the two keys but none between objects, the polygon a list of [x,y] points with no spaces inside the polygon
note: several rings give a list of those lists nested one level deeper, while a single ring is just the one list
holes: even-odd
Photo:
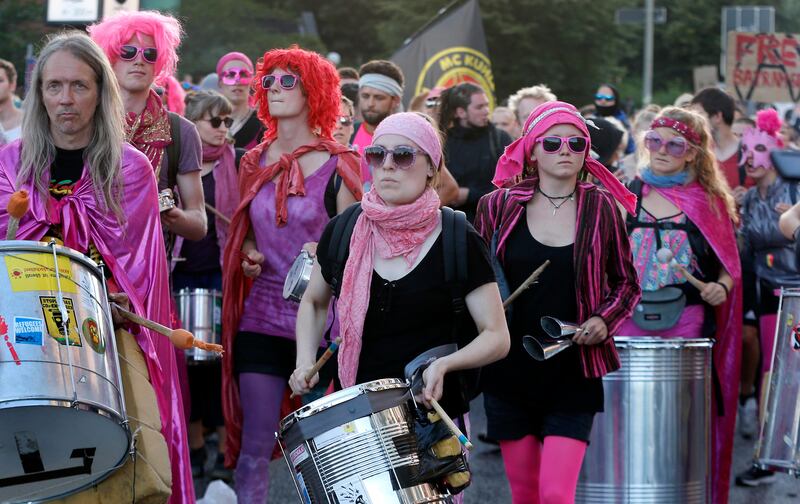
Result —
[{"label": "large silver drum with yellow and blue stickers, far left", "polygon": [[39,242],[0,242],[0,258],[0,502],[69,495],[130,441],[103,274]]}]

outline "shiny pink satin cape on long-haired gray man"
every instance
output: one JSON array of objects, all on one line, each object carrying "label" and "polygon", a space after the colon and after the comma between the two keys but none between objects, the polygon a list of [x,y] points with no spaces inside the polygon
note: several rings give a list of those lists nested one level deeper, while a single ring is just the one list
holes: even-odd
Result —
[{"label": "shiny pink satin cape on long-haired gray man", "polygon": [[[20,141],[0,148],[0,233],[8,227],[6,206],[17,189]],[[30,211],[21,219],[17,239],[40,240],[54,223],[61,224],[64,245],[84,251],[97,247],[114,281],[130,297],[137,314],[169,325],[169,282],[158,189],[147,157],[125,144],[122,155],[122,226],[110,210],[97,203],[88,166],[73,194],[60,201],[42,195],[28,181],[20,187],[30,193]],[[48,206],[50,207],[48,209]],[[167,441],[172,466],[171,503],[195,501],[189,463],[186,425],[178,383],[175,349],[168,338],[142,328],[136,340],[144,352],[150,381],[161,413],[161,432]]]}]

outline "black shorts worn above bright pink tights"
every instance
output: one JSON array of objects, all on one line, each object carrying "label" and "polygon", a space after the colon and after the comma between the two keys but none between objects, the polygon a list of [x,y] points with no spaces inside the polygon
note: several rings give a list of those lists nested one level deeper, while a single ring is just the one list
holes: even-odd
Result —
[{"label": "black shorts worn above bright pink tights", "polygon": [[487,437],[511,441],[533,435],[543,440],[561,436],[588,443],[594,422],[593,412],[541,411],[528,403],[515,403],[483,394]]}]

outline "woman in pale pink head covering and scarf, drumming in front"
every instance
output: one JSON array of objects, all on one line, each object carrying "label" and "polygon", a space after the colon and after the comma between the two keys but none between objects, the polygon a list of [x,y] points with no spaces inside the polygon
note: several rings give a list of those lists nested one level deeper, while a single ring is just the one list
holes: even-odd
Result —
[{"label": "woman in pale pink head covering and scarf, drumming in front", "polygon": [[[389,116],[375,130],[365,149],[374,184],[361,200],[341,278],[337,311],[342,344],[338,386],[380,378],[403,378],[414,357],[452,342],[450,285],[444,281],[444,245],[439,196],[433,189],[442,163],[439,136],[415,113]],[[345,215],[345,214],[342,214]],[[336,279],[328,259],[335,217],[320,238],[318,265],[297,314],[297,362],[290,385],[306,393],[305,374],[316,351]],[[508,329],[486,245],[467,223],[465,250],[468,275],[463,292],[478,335],[460,350],[435,360],[424,372],[424,399],[443,397],[444,375],[484,366],[508,351]],[[455,384],[455,382],[454,382]],[[444,387],[443,407],[456,417],[469,405]]]}]

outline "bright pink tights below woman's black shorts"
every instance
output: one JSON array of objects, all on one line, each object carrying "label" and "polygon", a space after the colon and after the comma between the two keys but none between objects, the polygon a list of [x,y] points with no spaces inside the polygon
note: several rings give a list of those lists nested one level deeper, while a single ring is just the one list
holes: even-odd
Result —
[{"label": "bright pink tights below woman's black shorts", "polygon": [[513,504],[572,504],[586,443],[547,436],[500,441]]}]

